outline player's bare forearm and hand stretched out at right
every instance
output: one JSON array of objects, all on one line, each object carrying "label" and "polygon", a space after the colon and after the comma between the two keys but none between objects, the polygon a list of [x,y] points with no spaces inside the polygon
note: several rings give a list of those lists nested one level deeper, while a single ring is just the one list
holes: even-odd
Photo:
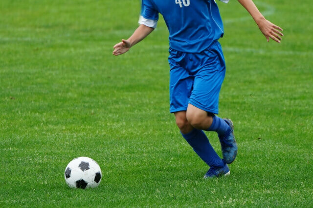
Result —
[{"label": "player's bare forearm and hand stretched out at right", "polygon": [[238,0],[238,1],[250,13],[250,15],[257,23],[261,32],[267,38],[267,40],[269,41],[269,38],[272,38],[276,42],[280,43],[280,40],[282,39],[281,36],[284,36],[280,31],[283,31],[283,29],[265,19],[252,0]]}]

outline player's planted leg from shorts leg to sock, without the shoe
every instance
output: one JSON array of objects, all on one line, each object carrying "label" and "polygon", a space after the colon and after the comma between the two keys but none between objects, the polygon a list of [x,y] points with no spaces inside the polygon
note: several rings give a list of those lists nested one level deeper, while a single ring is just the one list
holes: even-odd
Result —
[{"label": "player's planted leg from shorts leg to sock, without the shoe", "polygon": [[[182,67],[188,61],[187,58],[185,53],[170,49],[170,112],[175,114],[182,136],[201,159],[210,167],[214,167],[214,170],[223,169],[227,173],[227,165],[214,151],[205,133],[194,129],[187,120],[186,110],[194,82],[194,77]],[[213,176],[217,174],[209,175]]]}]

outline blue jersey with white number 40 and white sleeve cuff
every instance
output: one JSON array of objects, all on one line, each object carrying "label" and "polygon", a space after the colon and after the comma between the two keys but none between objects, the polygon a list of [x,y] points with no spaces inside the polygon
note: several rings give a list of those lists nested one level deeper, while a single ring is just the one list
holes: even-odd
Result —
[{"label": "blue jersey with white number 40 and white sleeve cuff", "polygon": [[158,13],[168,27],[170,47],[177,51],[200,53],[224,35],[215,0],[142,0],[139,23],[155,28]]}]

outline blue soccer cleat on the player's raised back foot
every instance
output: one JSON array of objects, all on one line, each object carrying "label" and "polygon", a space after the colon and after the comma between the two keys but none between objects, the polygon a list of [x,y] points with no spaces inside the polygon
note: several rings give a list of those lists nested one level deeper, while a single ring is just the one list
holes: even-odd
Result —
[{"label": "blue soccer cleat on the player's raised back foot", "polygon": [[238,147],[234,136],[234,124],[229,118],[224,118],[224,121],[229,125],[231,131],[228,135],[220,138],[223,159],[227,164],[232,163],[237,155]]}]

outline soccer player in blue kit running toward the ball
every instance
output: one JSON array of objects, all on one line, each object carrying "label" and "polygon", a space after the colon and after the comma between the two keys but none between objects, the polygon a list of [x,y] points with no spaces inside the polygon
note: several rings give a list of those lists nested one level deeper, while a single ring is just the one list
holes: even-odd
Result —
[{"label": "soccer player in blue kit running toward the ball", "polygon": [[[265,19],[252,0],[238,1],[267,40],[280,43],[282,29]],[[229,175],[227,164],[234,161],[238,148],[232,121],[216,115],[225,61],[218,42],[224,28],[215,0],[142,0],[139,27],[130,38],[114,45],[113,55],[126,53],[146,38],[156,28],[159,13],[170,33],[170,112],[183,138],[210,167],[204,178]],[[223,159],[203,131],[218,133]]]}]

